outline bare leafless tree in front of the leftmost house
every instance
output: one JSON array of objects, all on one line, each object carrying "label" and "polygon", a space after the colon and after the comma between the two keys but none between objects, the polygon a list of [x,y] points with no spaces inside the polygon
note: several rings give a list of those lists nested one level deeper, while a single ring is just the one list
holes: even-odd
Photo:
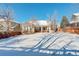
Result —
[{"label": "bare leafless tree in front of the leftmost house", "polygon": [[11,28],[10,21],[13,20],[13,10],[11,8],[6,7],[5,5],[3,7],[0,7],[0,18],[5,20],[5,27],[7,27],[7,32],[9,32]]}]

